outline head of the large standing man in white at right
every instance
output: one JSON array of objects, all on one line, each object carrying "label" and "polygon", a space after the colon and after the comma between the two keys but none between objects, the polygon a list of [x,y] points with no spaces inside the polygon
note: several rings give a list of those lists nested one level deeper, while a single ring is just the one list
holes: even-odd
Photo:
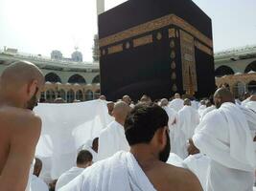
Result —
[{"label": "head of the large standing man in white at right", "polygon": [[214,94],[214,101],[217,108],[221,107],[222,103],[235,103],[235,98],[227,88],[220,88]]}]

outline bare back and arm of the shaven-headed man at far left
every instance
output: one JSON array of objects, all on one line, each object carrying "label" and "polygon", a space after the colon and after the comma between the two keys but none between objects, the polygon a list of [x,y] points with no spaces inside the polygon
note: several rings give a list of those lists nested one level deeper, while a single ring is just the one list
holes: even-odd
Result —
[{"label": "bare back and arm of the shaven-headed man at far left", "polygon": [[[41,120],[29,110],[0,106],[0,188],[26,185]],[[11,179],[12,178],[12,179]],[[5,183],[2,183],[5,182]],[[9,186],[10,186],[9,185]],[[23,188],[13,187],[13,190]],[[25,189],[25,188],[24,188]],[[23,190],[24,190],[23,189]]]}]

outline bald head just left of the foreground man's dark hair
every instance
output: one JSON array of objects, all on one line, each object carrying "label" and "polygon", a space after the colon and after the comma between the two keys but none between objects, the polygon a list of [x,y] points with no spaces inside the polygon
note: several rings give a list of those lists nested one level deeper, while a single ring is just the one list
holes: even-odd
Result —
[{"label": "bald head just left of the foreground man's dark hair", "polygon": [[114,106],[112,116],[115,117],[116,121],[120,122],[121,124],[124,124],[129,111],[130,107],[128,106],[128,104],[124,101],[119,101]]}]

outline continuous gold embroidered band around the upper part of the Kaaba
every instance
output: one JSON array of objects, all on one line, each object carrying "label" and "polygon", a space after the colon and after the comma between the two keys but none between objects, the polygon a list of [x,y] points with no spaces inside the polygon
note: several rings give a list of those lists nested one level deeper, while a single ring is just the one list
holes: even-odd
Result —
[{"label": "continuous gold embroidered band around the upper part of the Kaaba", "polygon": [[159,30],[170,25],[175,25],[186,32],[190,32],[192,35],[197,37],[198,40],[200,40],[207,46],[211,48],[213,47],[213,42],[210,38],[205,36],[203,33],[199,32],[195,27],[190,25],[184,19],[176,16],[175,14],[169,14],[169,15],[154,19],[150,22],[135,26],[126,31],[109,35],[105,38],[100,39],[99,45],[100,47],[105,47],[107,45],[111,45],[146,32]]}]

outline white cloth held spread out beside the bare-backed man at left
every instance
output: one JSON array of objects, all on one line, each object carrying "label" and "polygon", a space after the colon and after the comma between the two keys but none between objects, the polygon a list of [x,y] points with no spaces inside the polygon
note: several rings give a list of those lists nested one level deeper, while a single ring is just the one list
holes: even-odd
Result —
[{"label": "white cloth held spread out beside the bare-backed man at left", "polygon": [[40,177],[46,182],[76,165],[77,151],[88,139],[97,138],[106,127],[107,107],[97,99],[80,103],[38,104],[35,114],[42,131],[35,155],[42,162]]}]

